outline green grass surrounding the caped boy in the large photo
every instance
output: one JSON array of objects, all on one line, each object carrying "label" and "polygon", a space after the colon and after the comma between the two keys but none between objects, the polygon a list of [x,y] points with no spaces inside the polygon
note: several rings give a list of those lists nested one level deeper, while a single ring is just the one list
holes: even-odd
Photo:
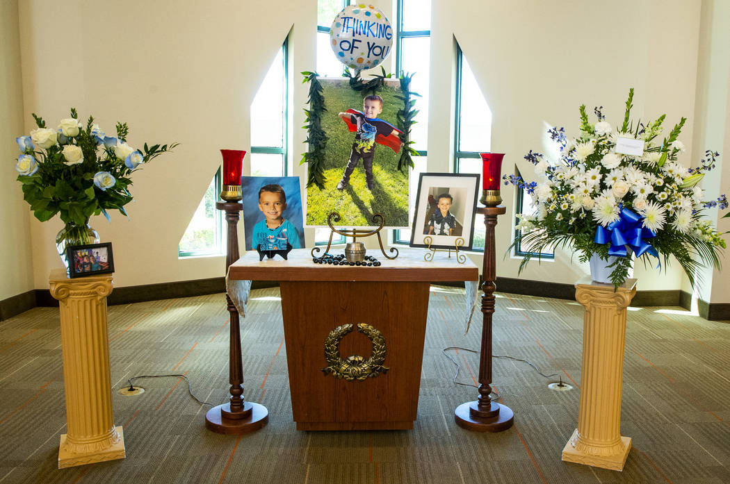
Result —
[{"label": "green grass surrounding the caped boy in the large photo", "polygon": [[[382,214],[386,226],[407,227],[408,172],[398,170],[399,154],[389,147],[374,146],[372,192],[365,183],[362,161],[345,190],[337,190],[355,139],[355,133],[347,130],[337,114],[347,109],[362,111],[364,94],[351,89],[346,79],[320,79],[320,82],[327,109],[322,116],[322,128],[328,136],[323,167],[326,181],[324,190],[315,186],[307,188],[307,225],[327,225],[327,215],[337,211],[342,217],[337,222],[340,226],[371,227],[373,214]],[[399,93],[398,87],[387,84],[377,93],[383,98],[383,112],[378,117],[394,126],[396,112],[403,107],[403,101],[396,98]]]}]

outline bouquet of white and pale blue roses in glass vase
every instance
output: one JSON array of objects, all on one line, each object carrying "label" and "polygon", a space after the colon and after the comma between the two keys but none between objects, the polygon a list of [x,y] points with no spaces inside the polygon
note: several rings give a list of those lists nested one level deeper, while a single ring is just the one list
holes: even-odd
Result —
[{"label": "bouquet of white and pale blue roses in glass vase", "polygon": [[91,243],[87,227],[92,215],[109,219],[107,211],[112,209],[126,215],[124,206],[132,200],[131,173],[177,146],[145,143],[142,150],[134,149],[126,143],[126,122],[117,123],[116,137],[107,136],[93,117],[82,125],[73,108],[57,129],[48,128],[42,117],[33,117],[38,128],[15,140],[20,149],[15,170],[36,218],[45,222],[55,214],[61,216],[66,226],[57,243],[64,246],[66,241]]}]

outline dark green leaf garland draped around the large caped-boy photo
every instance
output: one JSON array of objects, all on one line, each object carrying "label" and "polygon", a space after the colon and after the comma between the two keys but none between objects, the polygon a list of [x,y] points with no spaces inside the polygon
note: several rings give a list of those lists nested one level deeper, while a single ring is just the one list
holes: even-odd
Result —
[{"label": "dark green leaf garland draped around the large caped-boy photo", "polygon": [[[349,79],[350,87],[353,90],[362,93],[375,94],[383,89],[385,85],[385,79],[389,79],[393,74],[385,74],[385,69],[381,67],[383,74],[376,74],[372,79],[365,81],[361,79],[360,73],[357,72],[354,76],[350,74],[349,69],[345,69],[344,77]],[[309,173],[307,175],[307,187],[316,185],[320,190],[324,188],[324,152],[327,146],[327,136],[322,129],[322,114],[326,112],[324,106],[324,97],[322,95],[322,85],[319,82],[319,74],[312,71],[303,71],[304,75],[302,83],[310,83],[310,97],[307,102],[310,104],[310,109],[304,109],[304,114],[307,117],[307,124],[303,126],[307,130],[307,139],[305,143],[309,144],[307,152],[302,153],[301,162],[299,165],[309,163]],[[403,109],[397,113],[398,122],[396,123],[398,130],[401,132],[399,138],[403,144],[401,150],[401,157],[398,160],[398,169],[403,172],[403,169],[407,166],[414,166],[412,156],[419,156],[418,151],[410,147],[414,141],[410,141],[411,126],[415,122],[415,115],[418,114],[418,109],[413,109],[415,105],[415,99],[412,96],[419,96],[418,93],[414,93],[410,90],[410,81],[413,74],[403,74],[399,78],[401,83],[402,95],[396,96],[403,101]]]}]

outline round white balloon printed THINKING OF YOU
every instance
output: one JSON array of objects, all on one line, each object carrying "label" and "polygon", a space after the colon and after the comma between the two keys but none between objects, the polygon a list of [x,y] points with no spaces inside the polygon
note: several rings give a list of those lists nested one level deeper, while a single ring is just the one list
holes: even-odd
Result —
[{"label": "round white balloon printed THINKING OF YOU", "polygon": [[345,66],[370,69],[388,58],[393,28],[388,17],[372,5],[348,5],[334,17],[329,30],[330,47]]}]

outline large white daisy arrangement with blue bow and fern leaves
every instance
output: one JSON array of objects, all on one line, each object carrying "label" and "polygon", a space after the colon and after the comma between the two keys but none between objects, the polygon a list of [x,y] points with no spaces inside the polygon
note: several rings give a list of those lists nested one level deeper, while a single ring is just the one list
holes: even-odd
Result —
[{"label": "large white daisy arrangement with blue bow and fern leaves", "polygon": [[550,129],[560,147],[557,163],[532,151],[525,157],[535,165],[540,182],[503,177],[504,184],[527,190],[537,206],[518,223],[515,244],[534,252],[524,257],[520,272],[550,246],[574,249],[580,262],[591,257],[609,262],[615,286],[626,281],[634,255],[665,267],[674,256],[692,284],[700,265],[719,267],[718,251],[726,243],[702,220],[702,209],[727,208],[727,199],[722,195],[703,202],[697,187],[719,153],[708,150],[698,168],[685,168],[677,160],[685,151],[677,137],[686,119],[658,142],[665,115],[634,125],[633,97],[631,89],[620,126],[605,120],[602,107],[594,109],[598,120],[591,123],[580,106],[580,136],[569,139],[564,128]]}]

